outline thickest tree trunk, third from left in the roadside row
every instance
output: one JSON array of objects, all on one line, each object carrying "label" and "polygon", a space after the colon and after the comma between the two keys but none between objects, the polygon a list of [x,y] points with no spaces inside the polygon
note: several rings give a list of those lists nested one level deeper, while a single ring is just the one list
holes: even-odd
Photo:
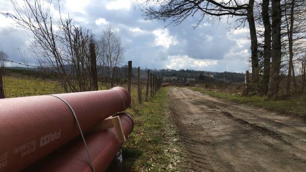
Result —
[{"label": "thickest tree trunk, third from left in the roadside row", "polygon": [[281,63],[281,9],[280,0],[272,0],[272,62],[268,97],[277,98],[279,89],[279,70]]}]

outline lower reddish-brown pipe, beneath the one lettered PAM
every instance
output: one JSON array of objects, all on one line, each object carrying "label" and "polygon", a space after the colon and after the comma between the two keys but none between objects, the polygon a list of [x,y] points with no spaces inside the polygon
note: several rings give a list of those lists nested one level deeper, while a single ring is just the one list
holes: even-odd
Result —
[{"label": "lower reddish-brown pipe, beneath the one lettered PAM", "polygon": [[[125,137],[132,132],[132,118],[119,115]],[[95,172],[105,172],[122,143],[118,143],[115,128],[95,131],[86,137],[87,148]],[[73,141],[39,160],[23,172],[92,172],[83,141]]]}]

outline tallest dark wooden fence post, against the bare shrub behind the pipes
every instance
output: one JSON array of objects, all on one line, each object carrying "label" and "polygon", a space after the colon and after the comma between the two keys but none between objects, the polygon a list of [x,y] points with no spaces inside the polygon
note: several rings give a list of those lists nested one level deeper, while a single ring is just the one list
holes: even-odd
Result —
[{"label": "tallest dark wooden fence post, against the bare shrub behind the pipes", "polygon": [[95,52],[95,44],[89,44],[89,58],[90,58],[90,69],[92,79],[92,90],[98,90],[98,73],[97,73],[97,57]]}]

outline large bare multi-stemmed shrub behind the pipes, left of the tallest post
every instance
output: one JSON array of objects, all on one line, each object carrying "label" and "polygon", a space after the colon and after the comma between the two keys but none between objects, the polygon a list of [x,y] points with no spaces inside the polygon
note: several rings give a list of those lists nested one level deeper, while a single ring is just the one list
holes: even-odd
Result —
[{"label": "large bare multi-stemmed shrub behind the pipes, left of the tallest post", "polygon": [[10,16],[17,25],[33,33],[30,49],[36,54],[41,69],[46,73],[56,72],[50,77],[63,86],[65,92],[92,90],[89,44],[94,42],[94,35],[74,26],[70,17],[63,19],[60,12],[60,17],[53,19],[52,0],[22,1],[20,4],[11,0],[16,14]]}]

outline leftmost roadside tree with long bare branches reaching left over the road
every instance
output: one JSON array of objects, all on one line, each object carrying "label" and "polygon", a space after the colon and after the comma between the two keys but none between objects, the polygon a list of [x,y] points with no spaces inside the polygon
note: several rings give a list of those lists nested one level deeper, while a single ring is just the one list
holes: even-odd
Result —
[{"label": "leftmost roadside tree with long bare branches reaching left over the road", "polygon": [[[259,81],[259,58],[256,26],[254,18],[255,0],[145,0],[140,3],[143,12],[150,19],[170,20],[171,24],[179,25],[186,18],[198,15],[198,24],[205,18],[215,17],[220,20],[223,16],[237,16],[239,27],[249,24],[251,38],[252,83]],[[152,5],[154,4],[154,5]]]}]

